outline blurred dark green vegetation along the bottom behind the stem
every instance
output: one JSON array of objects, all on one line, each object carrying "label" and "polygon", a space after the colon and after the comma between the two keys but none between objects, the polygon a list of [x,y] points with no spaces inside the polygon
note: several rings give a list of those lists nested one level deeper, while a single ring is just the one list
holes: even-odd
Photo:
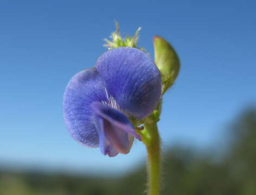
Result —
[{"label": "blurred dark green vegetation along the bottom behind the stem", "polygon": [[[181,146],[165,151],[162,194],[255,195],[256,109],[240,114],[226,135],[219,154]],[[116,178],[0,171],[1,195],[125,195],[145,188],[143,166]]]}]

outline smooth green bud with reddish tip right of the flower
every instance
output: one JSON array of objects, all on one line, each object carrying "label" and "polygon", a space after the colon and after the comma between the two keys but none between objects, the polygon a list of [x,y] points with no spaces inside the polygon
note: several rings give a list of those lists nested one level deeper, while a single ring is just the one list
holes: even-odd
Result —
[{"label": "smooth green bud with reddish tip right of the flower", "polygon": [[180,71],[180,60],[170,43],[162,37],[153,37],[153,46],[155,50],[155,63],[162,76],[162,94],[174,84]]}]

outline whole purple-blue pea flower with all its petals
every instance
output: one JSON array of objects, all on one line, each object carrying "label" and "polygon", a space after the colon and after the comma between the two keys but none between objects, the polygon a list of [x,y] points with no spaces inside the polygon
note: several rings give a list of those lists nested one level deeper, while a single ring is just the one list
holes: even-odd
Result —
[{"label": "whole purple-blue pea flower with all its petals", "polygon": [[129,118],[142,120],[161,97],[161,76],[150,57],[136,48],[120,47],[99,57],[95,67],[69,81],[63,99],[66,126],[86,147],[100,147],[110,157],[129,153],[141,139]]}]

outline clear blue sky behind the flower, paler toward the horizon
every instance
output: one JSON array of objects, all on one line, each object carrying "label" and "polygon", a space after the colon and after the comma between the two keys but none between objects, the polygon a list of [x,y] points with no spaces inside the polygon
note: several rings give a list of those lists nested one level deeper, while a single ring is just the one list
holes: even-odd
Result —
[{"label": "clear blue sky behind the flower, paler toward the horizon", "polygon": [[69,79],[94,66],[104,38],[142,27],[170,41],[182,67],[164,95],[163,148],[221,146],[223,128],[256,100],[255,1],[0,2],[0,163],[45,170],[122,173],[143,163],[138,141],[109,158],[77,144],[62,118]]}]

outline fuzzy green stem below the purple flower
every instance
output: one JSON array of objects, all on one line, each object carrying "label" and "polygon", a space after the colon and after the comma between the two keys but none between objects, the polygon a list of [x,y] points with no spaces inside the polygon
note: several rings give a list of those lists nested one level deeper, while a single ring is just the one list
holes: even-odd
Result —
[{"label": "fuzzy green stem below the purple flower", "polygon": [[148,195],[159,195],[160,193],[160,171],[161,171],[161,148],[156,122],[144,123],[144,139],[148,151]]}]

